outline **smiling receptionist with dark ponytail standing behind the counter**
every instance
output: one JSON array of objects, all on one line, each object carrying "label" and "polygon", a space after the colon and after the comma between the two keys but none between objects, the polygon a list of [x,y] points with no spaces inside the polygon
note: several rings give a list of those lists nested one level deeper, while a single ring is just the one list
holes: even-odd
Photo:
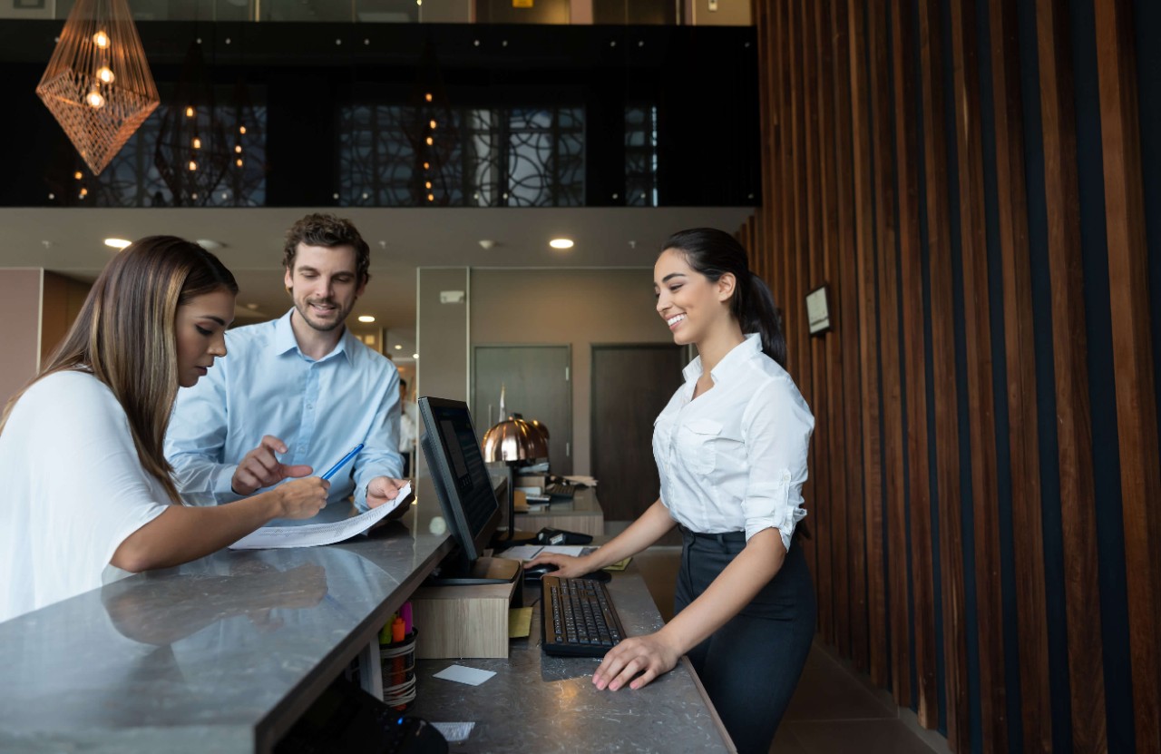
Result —
[{"label": "smiling receptionist with dark ponytail standing behind the counter", "polygon": [[[728,234],[675,234],[654,267],[657,313],[695,358],[654,424],[661,497],[583,558],[541,555],[575,577],[678,526],[676,615],[613,647],[598,688],[640,689],[686,654],[740,752],[767,752],[814,637],[815,595],[794,530],[814,416],[785,369],[766,285]],[[531,565],[531,563],[529,563]]]}]

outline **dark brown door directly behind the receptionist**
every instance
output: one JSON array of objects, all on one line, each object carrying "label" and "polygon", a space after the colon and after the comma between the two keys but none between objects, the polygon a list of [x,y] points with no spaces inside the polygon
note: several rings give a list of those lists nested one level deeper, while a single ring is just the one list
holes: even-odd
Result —
[{"label": "dark brown door directly behind the receptionist", "polygon": [[592,475],[605,520],[633,520],[657,500],[652,423],[685,364],[676,345],[592,346]]}]

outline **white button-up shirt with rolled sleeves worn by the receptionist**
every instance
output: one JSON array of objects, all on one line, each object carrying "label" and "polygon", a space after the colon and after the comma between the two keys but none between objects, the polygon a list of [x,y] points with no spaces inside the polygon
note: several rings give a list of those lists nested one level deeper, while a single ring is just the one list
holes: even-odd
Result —
[{"label": "white button-up shirt with rolled sleeves worn by the receptionist", "polygon": [[806,517],[802,483],[814,416],[789,374],[745,336],[692,400],[701,357],[654,423],[661,500],[677,523],[704,533],[776,527],[791,548]]}]

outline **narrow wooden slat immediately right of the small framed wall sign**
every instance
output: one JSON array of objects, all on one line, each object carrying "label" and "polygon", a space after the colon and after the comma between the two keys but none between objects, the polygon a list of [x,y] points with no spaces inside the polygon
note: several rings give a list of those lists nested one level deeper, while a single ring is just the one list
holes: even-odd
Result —
[{"label": "narrow wooden slat immediately right of the small framed wall sign", "polygon": [[[850,29],[845,0],[828,2],[832,12],[831,55],[834,56],[832,86],[835,88],[835,201],[837,209],[837,281],[834,294],[831,322],[842,340],[843,423],[845,451],[838,458],[863,457],[863,428],[859,397],[861,367],[859,361],[858,318],[858,257],[854,247],[856,210],[853,179],[853,123],[851,120],[851,52]],[[848,594],[845,633],[854,667],[867,669],[866,568],[864,567],[863,467],[860,464],[841,465],[845,471],[845,489],[841,497],[845,511],[844,538],[838,539],[836,558],[845,559]],[[841,618],[842,619],[842,618]]]}]

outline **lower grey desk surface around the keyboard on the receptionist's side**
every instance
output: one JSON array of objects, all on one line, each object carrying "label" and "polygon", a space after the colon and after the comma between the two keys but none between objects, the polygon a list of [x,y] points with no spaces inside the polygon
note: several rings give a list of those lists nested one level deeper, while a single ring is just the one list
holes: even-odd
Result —
[{"label": "lower grey desk surface around the keyboard on the receptionist's side", "polygon": [[[634,566],[608,582],[628,635],[650,633],[663,622]],[[643,689],[598,691],[589,658],[546,655],[540,648],[540,587],[525,587],[533,609],[532,634],[513,640],[507,659],[420,660],[418,697],[409,714],[438,723],[475,723],[453,753],[731,752],[684,658]],[[496,675],[481,685],[432,677],[450,665]]]}]

